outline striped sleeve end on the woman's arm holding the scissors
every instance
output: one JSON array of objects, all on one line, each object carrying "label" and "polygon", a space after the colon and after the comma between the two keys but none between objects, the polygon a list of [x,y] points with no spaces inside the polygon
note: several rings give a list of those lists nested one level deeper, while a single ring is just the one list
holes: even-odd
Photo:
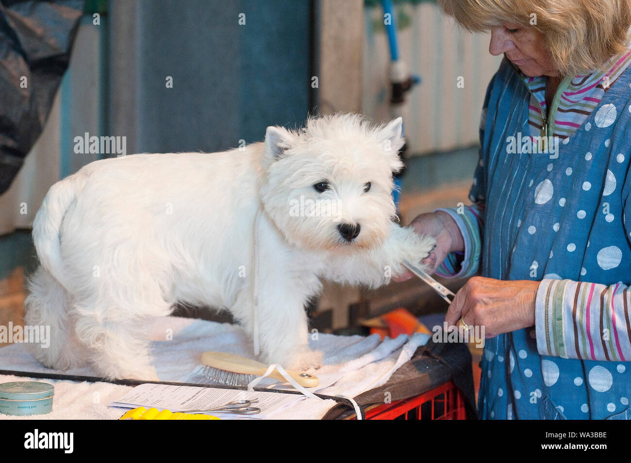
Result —
[{"label": "striped sleeve end on the woman's arm holding the scissors", "polygon": [[631,291],[606,284],[543,279],[535,302],[541,355],[585,360],[631,360]]}]

